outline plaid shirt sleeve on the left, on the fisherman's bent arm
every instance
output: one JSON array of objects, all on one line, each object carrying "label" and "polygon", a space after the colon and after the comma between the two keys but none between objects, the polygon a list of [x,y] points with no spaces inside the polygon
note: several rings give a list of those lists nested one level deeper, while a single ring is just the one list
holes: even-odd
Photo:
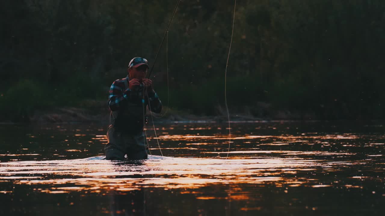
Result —
[{"label": "plaid shirt sleeve on the left, on the fisherman's bent arm", "polygon": [[122,108],[130,97],[130,89],[124,90],[125,86],[123,82],[114,81],[110,88],[108,97],[108,106],[111,111],[117,111]]}]

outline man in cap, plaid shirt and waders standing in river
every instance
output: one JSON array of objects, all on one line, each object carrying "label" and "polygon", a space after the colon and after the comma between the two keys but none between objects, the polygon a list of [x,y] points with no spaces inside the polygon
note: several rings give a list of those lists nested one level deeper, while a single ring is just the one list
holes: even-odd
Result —
[{"label": "man in cap, plaid shirt and waders standing in river", "polygon": [[162,110],[152,81],[145,78],[149,69],[147,63],[145,58],[133,58],[127,77],[111,85],[108,99],[111,125],[104,147],[107,160],[124,160],[125,155],[129,160],[147,159],[143,132],[146,106],[155,113]]}]

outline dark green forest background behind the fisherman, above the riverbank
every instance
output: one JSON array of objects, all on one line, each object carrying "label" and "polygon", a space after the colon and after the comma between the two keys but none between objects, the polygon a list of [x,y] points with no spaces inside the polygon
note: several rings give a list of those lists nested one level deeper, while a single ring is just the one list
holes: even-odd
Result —
[{"label": "dark green forest background behind the fisherman, above the riverbank", "polygon": [[[131,58],[152,65],[176,2],[3,0],[0,119],[107,101],[109,86],[127,75]],[[233,0],[179,4],[168,34],[172,110],[223,110],[233,10]],[[382,118],[384,23],[383,0],[238,0],[230,112]],[[167,104],[166,42],[151,79]]]}]

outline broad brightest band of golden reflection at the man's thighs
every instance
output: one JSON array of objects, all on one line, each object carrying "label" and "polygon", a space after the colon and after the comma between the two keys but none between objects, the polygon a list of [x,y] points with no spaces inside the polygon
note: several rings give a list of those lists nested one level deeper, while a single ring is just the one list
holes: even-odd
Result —
[{"label": "broad brightest band of golden reflection at the man's thighs", "polygon": [[[14,184],[36,185],[40,192],[100,193],[140,188],[200,188],[212,184],[274,184],[283,186],[320,185],[317,179],[296,178],[298,172],[321,171],[326,163],[302,158],[210,159],[150,156],[140,162],[116,162],[94,157],[78,160],[20,161],[0,163],[0,179]],[[338,165],[343,162],[338,163]],[[337,167],[328,163],[327,169]],[[50,175],[50,177],[47,177]],[[52,176],[53,175],[53,176]],[[42,189],[43,188],[43,189]],[[8,193],[8,192],[3,192]],[[239,194],[238,194],[239,195]],[[247,196],[244,196],[246,199]],[[209,199],[201,198],[201,199]],[[232,197],[236,199],[236,197]]]}]

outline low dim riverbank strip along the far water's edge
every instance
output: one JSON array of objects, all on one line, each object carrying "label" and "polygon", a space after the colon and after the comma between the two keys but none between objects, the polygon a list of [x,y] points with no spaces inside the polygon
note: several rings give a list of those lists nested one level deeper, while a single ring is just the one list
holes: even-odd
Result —
[{"label": "low dim riverbank strip along the far water's edge", "polygon": [[[164,106],[161,114],[154,113],[154,122],[170,121],[228,121],[226,109],[216,106],[216,115],[197,115],[189,111],[174,110]],[[257,106],[231,107],[230,120],[319,120],[314,113],[295,113],[271,109],[268,103]],[[149,110],[147,115],[150,120]],[[256,114],[255,114],[256,113]],[[15,120],[0,120],[2,123],[109,123],[110,110],[105,101],[86,100],[79,106],[53,107],[48,110],[37,110],[32,114],[19,116]]]}]

